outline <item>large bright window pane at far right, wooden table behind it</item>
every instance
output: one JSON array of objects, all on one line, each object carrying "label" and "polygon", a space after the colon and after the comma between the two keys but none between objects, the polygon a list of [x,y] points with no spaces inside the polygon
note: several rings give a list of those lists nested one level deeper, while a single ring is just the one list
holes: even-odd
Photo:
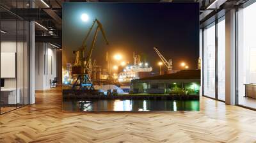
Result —
[{"label": "large bright window pane at far right, wooden table behind it", "polygon": [[256,3],[238,11],[238,104],[256,109]]}]

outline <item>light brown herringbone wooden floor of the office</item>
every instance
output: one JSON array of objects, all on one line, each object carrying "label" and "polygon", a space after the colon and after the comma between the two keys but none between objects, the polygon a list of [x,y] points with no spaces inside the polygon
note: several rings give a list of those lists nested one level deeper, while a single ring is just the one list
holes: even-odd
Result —
[{"label": "light brown herringbone wooden floor of the office", "polygon": [[200,99],[200,112],[64,113],[61,90],[0,116],[0,142],[256,142],[256,112]]}]

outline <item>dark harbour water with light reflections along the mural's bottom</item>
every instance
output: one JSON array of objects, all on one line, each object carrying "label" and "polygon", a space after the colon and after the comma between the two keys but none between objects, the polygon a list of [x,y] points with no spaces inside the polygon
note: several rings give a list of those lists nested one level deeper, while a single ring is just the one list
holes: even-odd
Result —
[{"label": "dark harbour water with light reflections along the mural's bottom", "polygon": [[67,111],[199,110],[198,100],[63,100]]}]

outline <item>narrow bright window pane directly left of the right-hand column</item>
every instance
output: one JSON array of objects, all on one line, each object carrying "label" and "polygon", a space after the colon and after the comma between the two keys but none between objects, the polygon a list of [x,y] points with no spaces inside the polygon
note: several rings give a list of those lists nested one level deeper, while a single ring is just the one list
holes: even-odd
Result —
[{"label": "narrow bright window pane directly left of the right-hand column", "polygon": [[225,19],[218,23],[218,99],[225,101]]}]

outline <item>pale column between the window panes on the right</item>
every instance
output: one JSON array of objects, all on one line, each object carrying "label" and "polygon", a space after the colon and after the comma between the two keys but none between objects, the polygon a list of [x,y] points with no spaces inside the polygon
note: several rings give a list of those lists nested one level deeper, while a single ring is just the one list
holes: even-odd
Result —
[{"label": "pale column between the window panes on the right", "polygon": [[226,12],[226,103],[236,104],[236,10]]}]

